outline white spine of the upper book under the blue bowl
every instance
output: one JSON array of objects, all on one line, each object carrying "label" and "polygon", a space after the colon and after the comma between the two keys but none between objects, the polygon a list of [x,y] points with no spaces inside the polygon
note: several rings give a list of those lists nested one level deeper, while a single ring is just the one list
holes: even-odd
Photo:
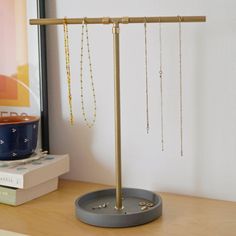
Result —
[{"label": "white spine of the upper book under the blue bowl", "polygon": [[12,175],[9,173],[0,172],[0,185],[14,188],[22,188],[23,177],[21,175]]}]

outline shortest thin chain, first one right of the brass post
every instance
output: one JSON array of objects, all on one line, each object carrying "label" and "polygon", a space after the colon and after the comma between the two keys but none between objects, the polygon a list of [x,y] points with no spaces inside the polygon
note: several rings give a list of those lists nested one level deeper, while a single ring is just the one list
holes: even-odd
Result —
[{"label": "shortest thin chain, first one right of the brass post", "polygon": [[146,122],[147,133],[149,132],[149,108],[148,108],[148,62],[147,62],[147,19],[144,22],[144,48],[145,48],[145,82],[146,82]]}]

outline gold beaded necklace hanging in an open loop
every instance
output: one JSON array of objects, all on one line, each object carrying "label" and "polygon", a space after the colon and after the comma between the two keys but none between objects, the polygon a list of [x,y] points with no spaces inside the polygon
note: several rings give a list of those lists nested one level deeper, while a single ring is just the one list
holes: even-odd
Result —
[{"label": "gold beaded necklace hanging in an open loop", "polygon": [[[87,118],[86,113],[85,113],[85,107],[84,107],[84,89],[83,89],[84,27],[85,27],[85,33],[86,33],[86,44],[87,44],[88,61],[89,61],[89,72],[90,72],[90,81],[91,81],[91,89],[92,89],[92,94],[93,94],[93,105],[94,105],[92,122],[88,121],[88,118]],[[97,114],[96,114],[97,113],[97,102],[96,102],[95,87],[94,87],[94,81],[93,81],[93,70],[92,70],[92,62],[91,62],[91,55],[90,55],[88,26],[85,23],[85,20],[82,23],[82,30],[81,30],[80,92],[81,92],[81,107],[82,107],[83,118],[84,118],[84,121],[85,121],[86,125],[89,128],[92,128],[95,124],[96,116],[97,116]]]}]

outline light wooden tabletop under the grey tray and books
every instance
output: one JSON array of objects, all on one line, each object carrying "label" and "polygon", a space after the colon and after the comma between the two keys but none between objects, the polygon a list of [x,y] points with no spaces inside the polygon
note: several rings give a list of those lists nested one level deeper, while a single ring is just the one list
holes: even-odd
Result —
[{"label": "light wooden tabletop under the grey tray and books", "polygon": [[161,193],[163,216],[130,228],[99,228],[78,221],[75,199],[106,186],[60,180],[59,190],[18,207],[0,204],[0,229],[28,235],[236,236],[236,203]]}]

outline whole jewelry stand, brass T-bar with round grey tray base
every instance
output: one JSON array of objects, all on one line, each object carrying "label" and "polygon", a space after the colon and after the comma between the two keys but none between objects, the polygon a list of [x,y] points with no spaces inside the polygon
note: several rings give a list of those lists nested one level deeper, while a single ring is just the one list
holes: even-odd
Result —
[{"label": "whole jewelry stand, brass T-bar with round grey tray base", "polygon": [[[84,18],[68,18],[67,24],[82,24]],[[115,166],[116,188],[85,194],[75,202],[78,219],[101,227],[128,227],[148,223],[162,215],[161,197],[153,192],[122,188],[120,119],[120,48],[119,24],[205,22],[205,16],[86,18],[86,24],[113,24],[114,95],[115,95]],[[64,19],[31,19],[31,25],[63,25]]]}]

